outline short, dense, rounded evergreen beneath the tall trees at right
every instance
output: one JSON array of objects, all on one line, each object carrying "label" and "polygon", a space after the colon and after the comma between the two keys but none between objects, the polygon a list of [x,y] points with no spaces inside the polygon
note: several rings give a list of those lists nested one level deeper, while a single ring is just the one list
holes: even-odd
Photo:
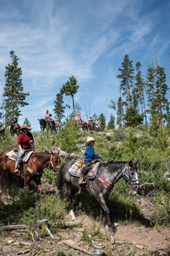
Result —
[{"label": "short, dense, rounded evergreen beneath the tall trees at right", "polygon": [[138,111],[131,107],[126,109],[124,120],[126,127],[135,127],[142,123],[144,116],[143,114],[138,114]]}]

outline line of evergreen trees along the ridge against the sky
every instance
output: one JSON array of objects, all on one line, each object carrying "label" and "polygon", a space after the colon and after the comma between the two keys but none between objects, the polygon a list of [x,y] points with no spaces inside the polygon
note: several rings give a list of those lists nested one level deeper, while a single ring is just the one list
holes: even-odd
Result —
[{"label": "line of evergreen trees along the ridge against the sky", "polygon": [[[23,92],[22,70],[18,67],[17,55],[14,51],[10,52],[11,64],[5,67],[5,86],[3,92],[2,112],[0,117],[5,120],[5,126],[11,123],[14,115],[21,115],[20,107],[28,105],[26,97],[29,92]],[[157,64],[156,46],[155,60],[147,67],[144,74],[141,71],[141,63],[138,61],[135,67],[128,55],[122,61],[122,67],[119,67],[117,78],[119,79],[119,98],[110,100],[109,108],[116,112],[116,118],[110,115],[110,121],[106,124],[106,117],[103,113],[98,116],[101,122],[101,128],[104,130],[117,127],[134,127],[138,125],[146,126],[150,129],[153,136],[158,136],[162,126],[169,126],[169,99],[168,85],[166,83],[165,68]],[[72,115],[75,117],[81,111],[80,105],[75,102],[74,96],[79,90],[79,85],[75,76],[70,76],[63,86],[58,89],[54,100],[55,119],[60,123],[65,117],[66,108],[63,96],[69,96],[73,102]],[[88,119],[88,111],[85,111]],[[97,118],[94,114],[92,118]]]}]

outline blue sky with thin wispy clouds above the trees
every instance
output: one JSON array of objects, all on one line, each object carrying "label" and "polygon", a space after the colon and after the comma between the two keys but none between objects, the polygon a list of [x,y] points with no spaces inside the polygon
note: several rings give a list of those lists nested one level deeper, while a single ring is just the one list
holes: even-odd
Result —
[{"label": "blue sky with thin wispy clouds above the trees", "polygon": [[[32,130],[46,109],[54,117],[60,88],[75,76],[79,91],[75,102],[90,114],[114,111],[110,100],[119,97],[119,74],[128,55],[144,74],[154,58],[165,67],[169,86],[170,2],[168,0],[0,0],[0,105],[5,66],[13,50],[23,70],[23,89],[29,105],[20,108]],[[72,106],[70,97],[64,103]],[[72,109],[66,109],[66,115]]]}]

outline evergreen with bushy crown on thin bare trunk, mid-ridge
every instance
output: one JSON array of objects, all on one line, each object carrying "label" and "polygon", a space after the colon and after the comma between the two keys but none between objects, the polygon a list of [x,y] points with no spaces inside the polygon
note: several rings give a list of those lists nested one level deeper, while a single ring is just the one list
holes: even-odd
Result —
[{"label": "evergreen with bushy crown on thin bare trunk, mid-ridge", "polygon": [[75,117],[75,106],[74,106],[74,95],[78,91],[79,86],[77,86],[77,80],[76,77],[71,76],[69,77],[69,81],[66,81],[66,83],[63,85],[63,87],[60,89],[60,92],[62,94],[65,94],[66,96],[71,96],[73,100],[73,116]]}]

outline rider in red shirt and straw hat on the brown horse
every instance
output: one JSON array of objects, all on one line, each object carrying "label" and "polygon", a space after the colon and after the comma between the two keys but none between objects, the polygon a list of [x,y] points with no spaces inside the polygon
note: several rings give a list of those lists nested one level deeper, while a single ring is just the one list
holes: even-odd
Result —
[{"label": "rider in red shirt and straw hat on the brown horse", "polygon": [[28,126],[27,123],[23,123],[23,126],[21,127],[22,133],[18,136],[18,156],[14,170],[15,173],[17,173],[18,168],[20,168],[20,161],[23,158],[25,151],[30,149],[30,144],[34,142],[32,133],[29,133],[29,129],[31,129],[31,126]]}]

